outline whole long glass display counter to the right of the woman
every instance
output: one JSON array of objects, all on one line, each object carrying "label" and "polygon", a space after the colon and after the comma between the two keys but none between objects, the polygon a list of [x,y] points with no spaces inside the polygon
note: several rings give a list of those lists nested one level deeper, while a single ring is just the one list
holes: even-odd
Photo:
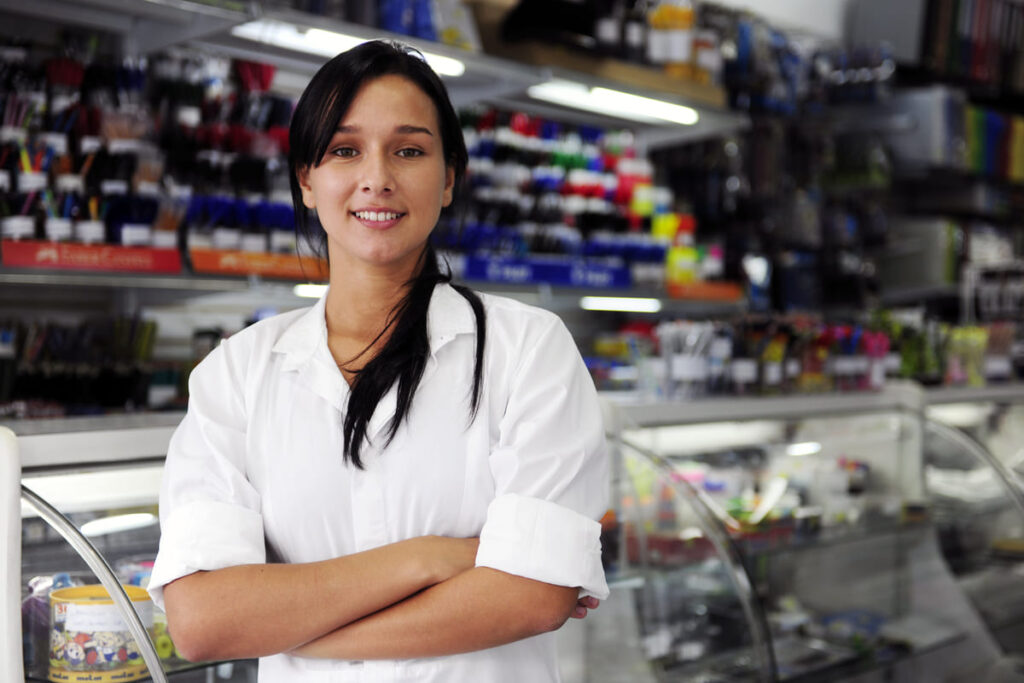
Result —
[{"label": "whole long glass display counter to the right of the woman", "polygon": [[984,410],[908,383],[610,399],[609,575],[634,581],[648,679],[1024,680],[1024,411],[972,434],[929,409],[957,397]]}]

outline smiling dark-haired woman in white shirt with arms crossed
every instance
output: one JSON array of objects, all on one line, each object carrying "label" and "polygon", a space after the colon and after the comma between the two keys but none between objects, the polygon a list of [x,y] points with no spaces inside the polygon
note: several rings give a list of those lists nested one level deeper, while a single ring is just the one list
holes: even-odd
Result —
[{"label": "smiling dark-haired woman in white shirt with arms crossed", "polygon": [[604,430],[572,338],[438,267],[467,155],[417,53],[329,61],[290,142],[330,287],[193,372],[154,600],[187,657],[260,656],[261,683],[556,681],[550,632],[607,595]]}]

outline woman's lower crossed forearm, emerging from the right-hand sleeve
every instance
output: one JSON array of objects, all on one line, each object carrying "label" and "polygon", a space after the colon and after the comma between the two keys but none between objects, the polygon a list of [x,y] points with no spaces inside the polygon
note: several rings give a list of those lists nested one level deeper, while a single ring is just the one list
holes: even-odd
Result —
[{"label": "woman's lower crossed forearm, emerging from the right-hand sleeve", "polygon": [[403,659],[497,647],[554,631],[579,589],[477,567],[297,648],[299,656]]}]

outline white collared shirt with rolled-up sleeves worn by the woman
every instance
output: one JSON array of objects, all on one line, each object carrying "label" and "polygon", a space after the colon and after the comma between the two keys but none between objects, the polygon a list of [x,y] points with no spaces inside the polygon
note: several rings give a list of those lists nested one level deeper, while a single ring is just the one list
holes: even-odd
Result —
[{"label": "white collared shirt with rolled-up sleeves worn by the woman", "polygon": [[[370,421],[358,470],[342,461],[349,387],[328,349],[325,299],[262,321],[193,372],[171,439],[150,592],[198,570],[311,562],[425,535],[480,537],[488,566],[607,596],[600,524],[608,479],[597,393],[551,312],[480,295],[483,386],[469,422],[475,321],[438,285],[430,358],[383,447],[395,388]],[[268,555],[269,552],[269,555]],[[500,616],[498,616],[500,618]],[[467,654],[351,663],[278,654],[260,683],[558,680],[554,634]]]}]

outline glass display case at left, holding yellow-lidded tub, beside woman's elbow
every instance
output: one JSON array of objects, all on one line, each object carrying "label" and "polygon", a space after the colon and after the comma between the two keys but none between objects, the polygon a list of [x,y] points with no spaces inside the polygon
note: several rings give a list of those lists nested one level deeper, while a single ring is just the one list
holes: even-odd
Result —
[{"label": "glass display case at left, holding yellow-lidded tub, beside woman's elbow", "polygon": [[0,428],[11,531],[5,575],[14,580],[6,582],[3,607],[19,615],[0,632],[3,652],[12,655],[0,663],[2,680],[255,683],[255,661],[181,658],[144,590],[160,537],[163,459],[180,418]]}]

